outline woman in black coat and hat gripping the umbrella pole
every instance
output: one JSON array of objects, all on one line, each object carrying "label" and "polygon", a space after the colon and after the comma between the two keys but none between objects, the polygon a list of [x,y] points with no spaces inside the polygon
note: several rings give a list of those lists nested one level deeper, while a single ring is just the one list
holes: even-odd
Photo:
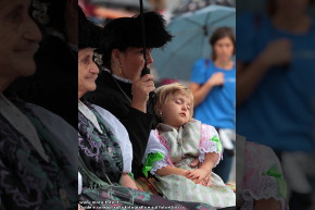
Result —
[{"label": "woman in black coat and hat gripping the umbrella pole", "polygon": [[[153,62],[151,50],[165,46],[172,36],[165,30],[163,17],[155,12],[144,13],[147,64]],[[112,112],[128,131],[134,149],[133,173],[141,176],[142,158],[148,145],[154,116],[147,110],[149,92],[155,89],[153,75],[141,76],[140,15],[110,22],[103,34],[109,47],[102,51],[103,66],[97,79],[97,90],[86,99]],[[153,112],[152,112],[153,113]]]}]

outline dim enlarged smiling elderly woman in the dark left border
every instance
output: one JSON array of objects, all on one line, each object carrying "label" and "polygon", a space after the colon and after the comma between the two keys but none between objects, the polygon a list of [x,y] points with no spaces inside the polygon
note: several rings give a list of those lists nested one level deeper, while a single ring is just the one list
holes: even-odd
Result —
[{"label": "dim enlarged smiling elderly woman in the dark left border", "polygon": [[1,208],[65,210],[77,206],[77,132],[43,108],[4,94],[16,78],[35,73],[41,34],[29,5],[30,0],[0,1]]}]

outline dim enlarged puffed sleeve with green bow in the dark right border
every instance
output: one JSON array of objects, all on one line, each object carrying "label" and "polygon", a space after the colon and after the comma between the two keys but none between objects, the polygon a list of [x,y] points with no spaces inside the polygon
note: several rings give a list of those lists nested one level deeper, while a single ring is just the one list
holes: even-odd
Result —
[{"label": "dim enlarged puffed sleeve with green bow in the dark right border", "polygon": [[243,136],[236,138],[236,209],[288,209],[287,183],[274,150]]}]

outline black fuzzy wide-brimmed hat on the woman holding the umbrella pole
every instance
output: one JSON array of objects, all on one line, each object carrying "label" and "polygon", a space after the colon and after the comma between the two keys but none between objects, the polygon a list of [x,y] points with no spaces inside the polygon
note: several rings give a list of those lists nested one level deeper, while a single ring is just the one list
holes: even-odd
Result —
[{"label": "black fuzzy wide-brimmed hat on the woman holding the umbrella pole", "polygon": [[[147,48],[161,48],[172,40],[173,36],[165,29],[165,20],[161,14],[146,12],[143,15]],[[128,47],[142,47],[141,14],[109,22],[103,28],[103,36],[109,42],[108,49],[103,51],[103,63],[110,69],[113,49],[123,51]]]}]

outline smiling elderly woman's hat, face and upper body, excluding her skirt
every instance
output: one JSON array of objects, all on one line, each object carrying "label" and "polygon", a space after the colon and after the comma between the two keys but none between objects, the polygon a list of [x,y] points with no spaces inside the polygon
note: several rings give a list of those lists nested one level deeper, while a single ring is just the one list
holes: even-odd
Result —
[{"label": "smiling elderly woman's hat, face and upper body, excluding her skirt", "polygon": [[[86,92],[97,87],[94,81],[98,77],[99,67],[93,61],[93,48],[100,47],[102,42],[98,36],[101,29],[88,22],[81,10],[79,10],[79,18],[81,20],[78,45],[79,171],[84,180],[91,172],[109,183],[121,183],[124,186],[137,188],[128,175],[131,172],[133,153],[127,131],[110,112],[80,101]],[[94,182],[93,180],[84,184],[91,186]]]}]

